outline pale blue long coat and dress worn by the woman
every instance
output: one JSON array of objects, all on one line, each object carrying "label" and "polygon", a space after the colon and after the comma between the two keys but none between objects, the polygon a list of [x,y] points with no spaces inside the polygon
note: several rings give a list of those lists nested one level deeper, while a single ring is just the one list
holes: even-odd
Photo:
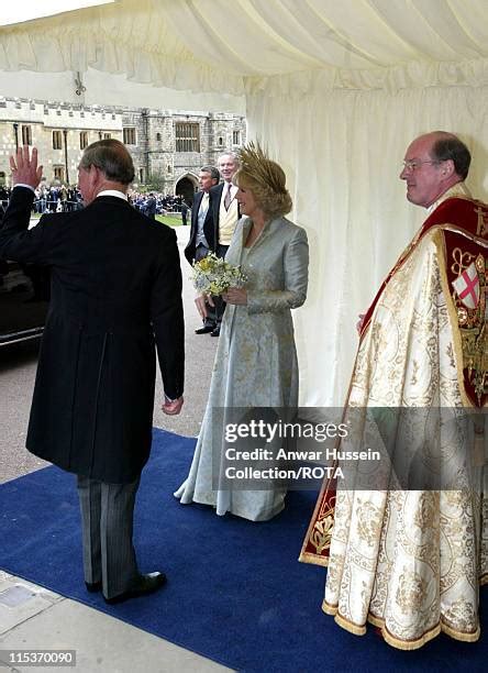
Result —
[{"label": "pale blue long coat and dress worn by the woman", "polygon": [[218,515],[230,511],[263,521],[284,508],[284,488],[243,490],[242,486],[229,488],[228,481],[224,489],[215,490],[212,478],[215,485],[222,470],[220,454],[230,409],[298,406],[290,309],[307,297],[309,249],[306,231],[286,218],[268,222],[254,245],[244,249],[251,225],[248,218],[240,220],[225,257],[231,264],[242,264],[248,276],[247,306],[226,306],[193,461],[175,495],[182,504],[213,505]]}]

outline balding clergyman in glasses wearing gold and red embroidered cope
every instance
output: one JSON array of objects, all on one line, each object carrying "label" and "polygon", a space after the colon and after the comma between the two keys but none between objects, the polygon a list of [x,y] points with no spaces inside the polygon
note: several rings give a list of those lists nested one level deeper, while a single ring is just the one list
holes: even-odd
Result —
[{"label": "balding clergyman in glasses wearing gold and red embroidered cope", "polygon": [[300,555],[328,566],[324,613],[403,650],[441,631],[476,641],[488,582],[488,207],[469,164],[446,132],[407,150],[400,178],[429,217],[362,317],[344,408],[356,421],[337,445],[387,446],[390,463],[369,488],[361,465],[323,484]]}]

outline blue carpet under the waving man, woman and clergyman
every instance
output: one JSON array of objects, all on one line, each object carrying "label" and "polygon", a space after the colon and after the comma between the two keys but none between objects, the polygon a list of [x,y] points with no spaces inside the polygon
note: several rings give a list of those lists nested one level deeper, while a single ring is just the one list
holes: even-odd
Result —
[{"label": "blue carpet under the waving man, woman and clergyman", "polygon": [[75,477],[56,467],[0,486],[0,567],[239,671],[487,670],[486,632],[401,652],[373,627],[358,638],[336,626],[320,609],[324,569],[297,562],[315,494],[290,493],[265,523],[182,506],[171,494],[193,446],[155,430],[137,496],[137,556],[143,572],[167,572],[160,593],[109,607],[85,591]]}]

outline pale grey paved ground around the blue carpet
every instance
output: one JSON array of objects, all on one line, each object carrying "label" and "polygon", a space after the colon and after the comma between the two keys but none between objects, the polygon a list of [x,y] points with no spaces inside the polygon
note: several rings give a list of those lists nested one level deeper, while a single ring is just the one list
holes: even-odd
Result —
[{"label": "pale grey paved ground around the blue carpet", "polygon": [[[181,251],[189,228],[177,228]],[[155,404],[154,424],[185,435],[198,434],[207,402],[217,339],[197,335],[200,319],[193,306],[190,267],[182,258],[185,318],[187,324],[187,375],[184,411],[168,418]],[[24,449],[25,429],[34,383],[37,346],[0,349],[0,482],[45,465]],[[158,390],[160,393],[160,383]],[[162,598],[164,594],[162,593]],[[228,669],[141,631],[113,617],[69,600],[0,571],[0,666],[8,664],[5,650],[69,649],[77,651],[81,673],[207,673]],[[15,663],[5,670],[25,671]],[[55,672],[63,669],[43,668]]]}]

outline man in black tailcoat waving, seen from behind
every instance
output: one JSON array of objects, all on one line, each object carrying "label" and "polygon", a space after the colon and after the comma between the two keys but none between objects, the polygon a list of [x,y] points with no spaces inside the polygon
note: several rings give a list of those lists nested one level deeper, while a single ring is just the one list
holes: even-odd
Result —
[{"label": "man in black tailcoat waving, seen from behind", "polygon": [[136,211],[134,166],[113,139],[89,145],[78,170],[86,208],[29,228],[42,176],[37,151],[10,158],[15,185],[0,256],[51,269],[51,304],[29,422],[27,449],[78,475],[88,591],[119,603],[158,589],[132,543],[141,472],[149,456],[156,349],[163,411],[184,389],[181,272],[175,232]]}]

